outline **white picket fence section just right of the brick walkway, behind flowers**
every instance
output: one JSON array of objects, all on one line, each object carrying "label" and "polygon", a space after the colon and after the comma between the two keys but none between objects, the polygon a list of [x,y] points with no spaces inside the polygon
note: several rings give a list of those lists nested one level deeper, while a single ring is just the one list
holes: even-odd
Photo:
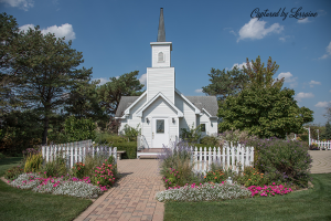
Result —
[{"label": "white picket fence section just right of the brick walkway, behind flowers", "polygon": [[[221,150],[222,149],[222,150]],[[225,144],[221,147],[191,147],[193,160],[195,160],[194,171],[205,173],[211,165],[223,166],[224,169],[231,168],[233,171],[244,171],[244,167],[254,164],[254,147],[244,145]]]}]

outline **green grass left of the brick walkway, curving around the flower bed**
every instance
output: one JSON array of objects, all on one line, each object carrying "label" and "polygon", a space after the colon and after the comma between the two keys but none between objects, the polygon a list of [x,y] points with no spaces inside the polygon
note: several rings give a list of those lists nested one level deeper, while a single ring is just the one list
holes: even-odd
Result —
[{"label": "green grass left of the brick walkway, curving around the flower bed", "polygon": [[[0,177],[22,158],[0,159]],[[73,220],[92,200],[67,196],[53,196],[21,190],[0,180],[0,220]]]}]

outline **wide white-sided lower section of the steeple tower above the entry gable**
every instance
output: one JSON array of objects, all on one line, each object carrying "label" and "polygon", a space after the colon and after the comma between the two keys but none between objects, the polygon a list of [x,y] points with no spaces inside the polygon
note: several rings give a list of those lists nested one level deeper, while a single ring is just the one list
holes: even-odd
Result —
[{"label": "wide white-sided lower section of the steeple tower above the entry gable", "polygon": [[147,101],[159,92],[174,103],[174,67],[147,69]]}]

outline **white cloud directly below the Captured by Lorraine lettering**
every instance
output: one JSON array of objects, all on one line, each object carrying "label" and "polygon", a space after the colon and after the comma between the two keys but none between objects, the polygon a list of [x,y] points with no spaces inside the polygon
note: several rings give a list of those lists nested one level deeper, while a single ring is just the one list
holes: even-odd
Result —
[{"label": "white cloud directly below the Captured by Lorraine lettering", "polygon": [[279,23],[274,23],[266,29],[266,23],[265,21],[259,21],[257,18],[250,19],[250,21],[239,30],[237,42],[243,39],[263,39],[270,33],[280,33],[284,30],[284,27]]}]

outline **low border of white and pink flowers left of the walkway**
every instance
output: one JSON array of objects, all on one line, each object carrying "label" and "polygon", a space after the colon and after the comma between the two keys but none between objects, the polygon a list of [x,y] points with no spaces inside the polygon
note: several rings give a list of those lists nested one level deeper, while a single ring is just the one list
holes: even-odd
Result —
[{"label": "low border of white and pink flowers left of the walkway", "polygon": [[96,187],[90,183],[88,177],[78,179],[75,177],[42,178],[38,173],[22,173],[18,179],[9,183],[19,189],[31,189],[34,192],[67,194],[79,198],[98,198],[107,190],[106,186]]}]

